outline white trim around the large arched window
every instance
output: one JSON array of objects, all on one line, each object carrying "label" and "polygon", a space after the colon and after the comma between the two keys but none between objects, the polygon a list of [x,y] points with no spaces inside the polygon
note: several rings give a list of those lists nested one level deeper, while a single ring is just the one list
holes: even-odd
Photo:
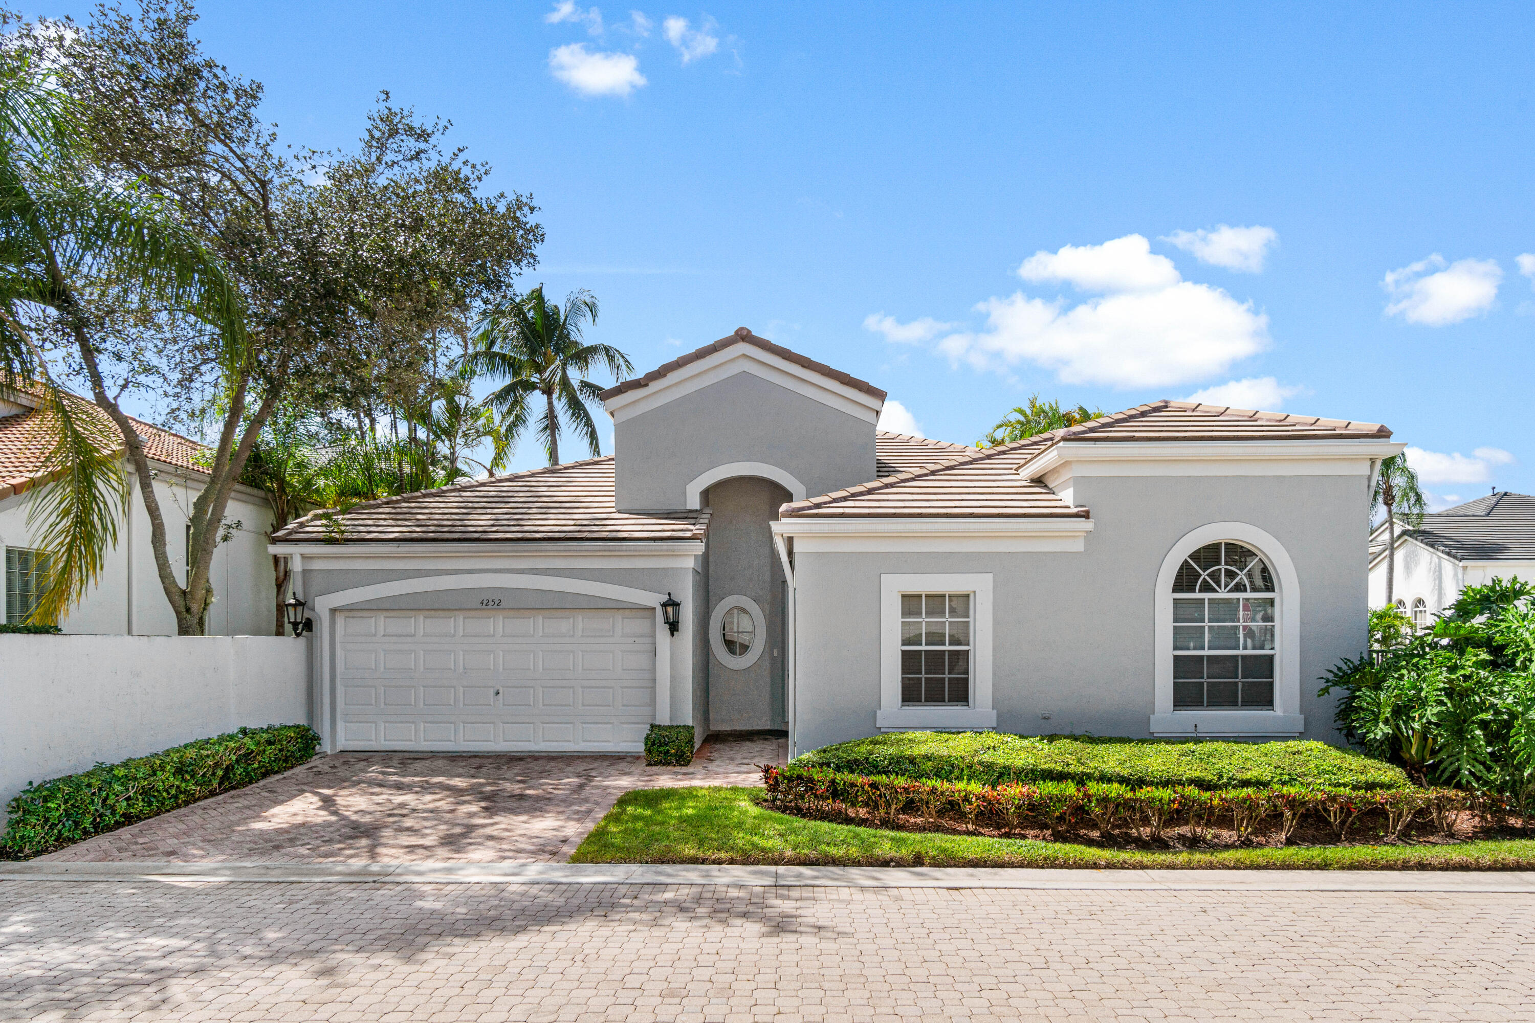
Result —
[{"label": "white trim around the large arched window", "polygon": [[[1273,710],[1173,710],[1173,578],[1190,554],[1217,540],[1253,548],[1274,571],[1279,592],[1274,624]],[[1305,727],[1300,713],[1300,577],[1285,548],[1268,532],[1245,521],[1213,521],[1179,538],[1162,558],[1156,577],[1156,669],[1151,735],[1159,736],[1296,736]]]}]

